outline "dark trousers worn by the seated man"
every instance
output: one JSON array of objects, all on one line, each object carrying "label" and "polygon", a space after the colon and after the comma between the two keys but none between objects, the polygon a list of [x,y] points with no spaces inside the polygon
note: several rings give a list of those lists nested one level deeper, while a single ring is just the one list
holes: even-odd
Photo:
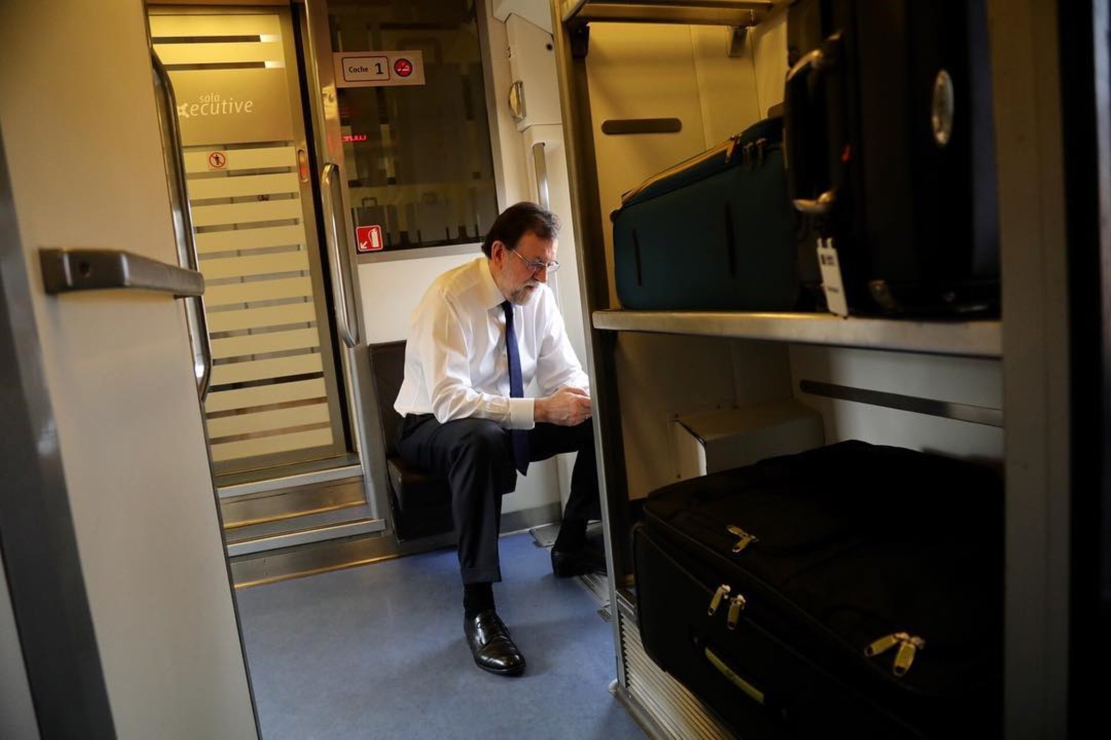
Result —
[{"label": "dark trousers worn by the seated man", "polygon": [[[517,485],[509,430],[489,419],[440,424],[431,414],[410,414],[400,426],[397,446],[407,463],[448,479],[463,582],[501,580],[501,497]],[[563,518],[601,518],[594,429],[589,419],[578,426],[537,424],[529,430],[529,452],[530,462],[579,453]]]}]

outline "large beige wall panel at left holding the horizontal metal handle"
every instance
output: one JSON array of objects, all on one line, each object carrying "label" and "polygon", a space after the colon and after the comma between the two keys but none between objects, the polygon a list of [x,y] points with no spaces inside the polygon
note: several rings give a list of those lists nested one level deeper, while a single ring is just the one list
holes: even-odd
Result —
[{"label": "large beige wall panel at left holding the horizontal metal handle", "polygon": [[177,264],[143,3],[0,3],[0,126],[116,732],[253,738],[182,304],[39,272],[44,246]]}]

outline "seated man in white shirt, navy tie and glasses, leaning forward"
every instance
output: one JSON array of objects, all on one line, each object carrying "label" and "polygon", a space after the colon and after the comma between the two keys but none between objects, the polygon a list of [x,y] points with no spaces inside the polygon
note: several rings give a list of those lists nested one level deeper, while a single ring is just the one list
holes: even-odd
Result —
[{"label": "seated man in white shirt, navy tie and glasses, leaning forward", "polygon": [[[398,453],[451,487],[474,662],[506,676],[523,671],[524,658],[494,610],[501,497],[529,462],[579,453],[552,570],[568,577],[601,567],[585,547],[587,521],[600,517],[590,379],[547,285],[559,268],[558,234],[552,213],[518,203],[490,227],[484,256],[432,283],[412,314],[394,403],[404,416]],[[524,397],[533,379],[540,395]]]}]

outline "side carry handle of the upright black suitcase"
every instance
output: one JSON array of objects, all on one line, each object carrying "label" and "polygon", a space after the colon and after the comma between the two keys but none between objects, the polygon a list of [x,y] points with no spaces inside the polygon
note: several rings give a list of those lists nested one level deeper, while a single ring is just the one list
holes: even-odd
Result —
[{"label": "side carry handle of the upright black suitcase", "polygon": [[[834,33],[820,48],[811,50],[800,59],[787,74],[783,100],[783,162],[787,168],[791,202],[795,210],[808,215],[825,215],[837,201],[835,187],[825,190],[815,199],[799,197],[799,195],[814,190],[810,182],[813,178],[808,175],[813,175],[815,163],[809,162],[804,153],[807,122],[820,115],[821,130],[829,130],[824,124],[827,111],[811,110],[813,107],[810,104],[810,75],[824,78],[833,70],[840,41],[840,33]],[[824,80],[819,79],[815,83],[824,84]]]}]

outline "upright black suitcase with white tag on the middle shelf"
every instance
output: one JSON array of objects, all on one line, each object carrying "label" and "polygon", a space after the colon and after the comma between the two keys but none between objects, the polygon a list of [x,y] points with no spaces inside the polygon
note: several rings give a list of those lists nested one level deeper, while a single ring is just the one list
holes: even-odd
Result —
[{"label": "upright black suitcase with white tag on the middle shelf", "polygon": [[788,47],[803,281],[822,280],[814,241],[829,237],[852,313],[998,312],[983,0],[795,0]]}]

